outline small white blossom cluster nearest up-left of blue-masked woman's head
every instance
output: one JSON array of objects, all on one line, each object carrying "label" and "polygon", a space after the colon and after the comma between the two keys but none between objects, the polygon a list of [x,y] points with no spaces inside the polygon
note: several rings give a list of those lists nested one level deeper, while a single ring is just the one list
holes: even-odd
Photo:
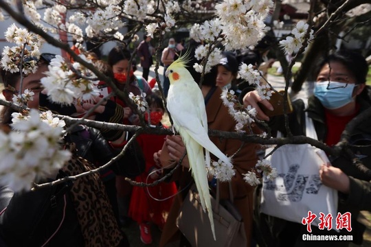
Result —
[{"label": "small white blossom cluster nearest up-left of blue-masked woman's head", "polygon": [[[285,54],[295,54],[302,48],[308,27],[309,25],[307,23],[299,21],[291,31],[291,36],[287,36],[286,39],[280,41],[280,45],[282,49],[284,49]],[[308,43],[314,38],[313,32],[313,30],[309,32]]]}]

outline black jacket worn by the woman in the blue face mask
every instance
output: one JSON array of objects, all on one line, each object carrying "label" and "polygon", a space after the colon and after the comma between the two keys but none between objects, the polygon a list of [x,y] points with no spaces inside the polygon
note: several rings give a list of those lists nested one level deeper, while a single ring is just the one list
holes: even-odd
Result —
[{"label": "black jacket worn by the woman in the blue face mask", "polygon": [[[360,106],[359,116],[365,110],[370,108],[370,103],[365,99],[358,97],[357,103]],[[308,117],[313,120],[317,138],[324,142],[328,131],[326,126],[325,109],[319,99],[312,96],[308,99],[308,108],[304,109],[304,102],[297,99],[292,102],[293,113],[289,114],[289,126],[293,135],[305,135],[305,112],[308,112]],[[269,123],[273,130],[279,130],[286,134],[284,128],[283,116],[273,117]],[[371,169],[371,119],[361,122],[348,133],[350,136],[349,144],[363,165]],[[273,131],[272,131],[273,132]],[[340,213],[352,213],[352,235],[353,242],[361,243],[363,239],[364,226],[357,222],[359,211],[371,211],[371,178],[365,173],[360,172],[355,165],[352,164],[352,159],[346,156],[345,152],[340,156],[329,156],[331,164],[339,167],[344,173],[350,176],[350,193],[345,195],[339,192],[338,211]],[[282,222],[281,222],[282,223]],[[322,233],[326,234],[326,233]],[[348,233],[349,234],[349,233]]]}]

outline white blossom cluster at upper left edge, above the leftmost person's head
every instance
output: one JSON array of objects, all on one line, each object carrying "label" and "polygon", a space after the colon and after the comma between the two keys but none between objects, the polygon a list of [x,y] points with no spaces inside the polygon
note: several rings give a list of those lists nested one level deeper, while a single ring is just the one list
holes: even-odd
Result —
[{"label": "white blossom cluster at upper left edge, above the leftmost person's head", "polygon": [[14,23],[6,30],[5,39],[9,43],[15,43],[16,46],[4,47],[1,67],[10,73],[19,72],[21,67],[24,75],[35,73],[43,39],[25,28],[17,27]]}]

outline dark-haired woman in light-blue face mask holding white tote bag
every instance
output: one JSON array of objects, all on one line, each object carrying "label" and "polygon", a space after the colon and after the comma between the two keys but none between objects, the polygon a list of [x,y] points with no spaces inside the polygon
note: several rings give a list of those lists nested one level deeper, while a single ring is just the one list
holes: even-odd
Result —
[{"label": "dark-haired woman in light-blue face mask holding white tote bag", "polygon": [[[319,141],[333,146],[339,143],[341,133],[350,121],[370,108],[370,97],[366,90],[368,64],[360,54],[351,51],[337,51],[319,62],[316,70],[314,94],[308,98],[308,107],[304,108],[301,99],[293,102],[293,113],[289,114],[289,126],[294,135],[305,135],[305,115],[313,120]],[[256,91],[250,91],[244,97],[245,106],[256,107],[258,118],[269,120],[273,130],[286,133],[282,116],[272,117],[262,113],[257,102],[273,109],[266,99],[262,100]],[[366,119],[351,128],[349,148],[363,165],[371,168],[371,119]],[[312,226],[313,235],[352,235],[352,242],[361,244],[365,226],[357,222],[359,211],[371,211],[371,178],[352,164],[352,158],[342,152],[339,156],[329,156],[330,164],[324,164],[319,169],[322,184],[338,191],[339,201],[337,211],[341,214],[351,213],[352,231],[319,230]],[[265,243],[259,246],[328,246],[328,242],[302,242],[302,235],[308,234],[306,226],[288,222],[276,217],[260,213],[258,225],[262,228],[275,229],[266,231]],[[337,215],[333,215],[336,217]],[[270,218],[269,224],[267,219]],[[330,246],[348,246],[350,242],[331,242]]]}]

